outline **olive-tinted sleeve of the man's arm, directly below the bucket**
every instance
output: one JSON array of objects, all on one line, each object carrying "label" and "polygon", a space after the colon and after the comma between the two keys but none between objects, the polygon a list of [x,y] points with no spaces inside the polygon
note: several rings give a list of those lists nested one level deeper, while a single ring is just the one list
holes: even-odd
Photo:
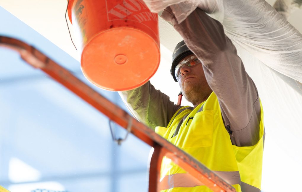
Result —
[{"label": "olive-tinted sleeve of the man's arm, directly below the bucket", "polygon": [[119,94],[132,115],[153,130],[156,126],[168,126],[180,108],[170,101],[169,96],[156,90],[150,81],[133,90],[119,91]]}]

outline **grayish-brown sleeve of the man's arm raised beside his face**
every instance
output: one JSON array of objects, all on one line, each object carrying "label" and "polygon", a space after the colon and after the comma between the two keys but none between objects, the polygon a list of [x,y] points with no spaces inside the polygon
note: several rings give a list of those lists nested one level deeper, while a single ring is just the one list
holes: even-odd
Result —
[{"label": "grayish-brown sleeve of the man's arm raised beside his face", "polygon": [[224,125],[236,146],[259,141],[260,101],[254,82],[222,24],[197,8],[178,23],[173,6],[162,18],[172,23],[187,46],[201,60],[208,84],[217,95]]}]

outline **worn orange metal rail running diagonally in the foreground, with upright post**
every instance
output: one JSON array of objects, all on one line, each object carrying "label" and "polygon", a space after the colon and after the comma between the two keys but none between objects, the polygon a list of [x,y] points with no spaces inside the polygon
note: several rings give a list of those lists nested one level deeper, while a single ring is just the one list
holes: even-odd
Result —
[{"label": "worn orange metal rail running diagonally in the foreground, with upright post", "polygon": [[154,148],[149,170],[149,192],[159,192],[160,167],[162,157],[170,158],[194,178],[215,192],[236,191],[235,188],[209,170],[196,159],[169,143],[156,134],[152,129],[138,122],[119,106],[104,98],[101,94],[90,88],[68,70],[56,64],[34,47],[10,37],[0,36],[0,46],[13,49],[20,53],[21,58],[34,68],[39,68],[54,80],[58,81],[73,93],[84,99],[98,109],[112,121],[126,128],[132,121],[130,132]]}]

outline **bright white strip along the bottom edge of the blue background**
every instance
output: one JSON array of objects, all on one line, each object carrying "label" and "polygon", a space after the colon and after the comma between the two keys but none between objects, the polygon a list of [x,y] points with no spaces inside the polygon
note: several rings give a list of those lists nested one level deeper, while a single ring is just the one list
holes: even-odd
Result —
[{"label": "bright white strip along the bottom edge of the blue background", "polygon": [[[44,189],[44,190],[43,190]],[[30,183],[30,184],[16,184],[8,187],[8,190],[11,192],[40,192],[40,191],[56,191],[61,192],[65,191],[65,188],[62,184],[50,181],[50,182],[41,182],[41,183]]]}]

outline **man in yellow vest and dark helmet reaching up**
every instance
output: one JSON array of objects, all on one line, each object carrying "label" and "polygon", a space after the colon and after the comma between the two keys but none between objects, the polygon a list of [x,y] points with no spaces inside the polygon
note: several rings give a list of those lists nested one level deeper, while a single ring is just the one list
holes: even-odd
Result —
[{"label": "man in yellow vest and dark helmet reaching up", "polygon": [[[178,23],[173,8],[162,18],[182,35],[171,74],[194,107],[175,105],[148,82],[120,92],[133,115],[232,184],[260,191],[263,112],[255,84],[246,73],[223,26],[197,8]],[[185,43],[186,42],[186,43]],[[162,191],[211,191],[164,158]]]}]

